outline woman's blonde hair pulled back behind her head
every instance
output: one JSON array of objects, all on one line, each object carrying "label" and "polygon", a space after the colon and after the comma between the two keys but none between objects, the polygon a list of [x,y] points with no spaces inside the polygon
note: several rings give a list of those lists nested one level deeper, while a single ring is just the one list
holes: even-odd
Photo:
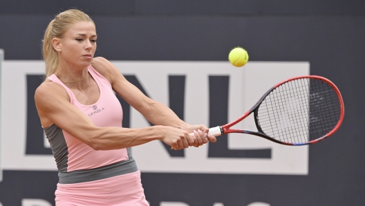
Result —
[{"label": "woman's blonde hair pulled back behind her head", "polygon": [[94,23],[84,12],[77,9],[70,9],[59,13],[48,24],[44,32],[44,39],[42,40],[43,59],[46,62],[46,77],[53,75],[57,71],[59,63],[58,53],[53,48],[52,39],[55,37],[62,38],[68,28],[78,21],[91,21]]}]

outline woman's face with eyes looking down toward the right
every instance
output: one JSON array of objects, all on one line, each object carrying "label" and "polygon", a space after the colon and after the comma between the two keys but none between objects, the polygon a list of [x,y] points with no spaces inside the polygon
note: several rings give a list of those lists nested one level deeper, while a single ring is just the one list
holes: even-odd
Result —
[{"label": "woman's face with eyes looking down toward the right", "polygon": [[70,66],[85,68],[94,57],[96,30],[91,21],[78,21],[59,39],[59,60]]}]

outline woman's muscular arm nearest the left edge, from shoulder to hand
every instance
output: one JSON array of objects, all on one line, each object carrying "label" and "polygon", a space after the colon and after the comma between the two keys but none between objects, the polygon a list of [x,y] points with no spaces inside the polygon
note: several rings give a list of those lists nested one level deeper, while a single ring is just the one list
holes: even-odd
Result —
[{"label": "woman's muscular arm nearest the left edge, from shoulder to hand", "polygon": [[173,127],[97,127],[69,102],[64,88],[53,82],[44,82],[37,88],[35,103],[44,127],[54,123],[95,150],[133,147],[152,140],[164,140],[175,149],[183,149],[194,142],[188,139],[189,133]]}]

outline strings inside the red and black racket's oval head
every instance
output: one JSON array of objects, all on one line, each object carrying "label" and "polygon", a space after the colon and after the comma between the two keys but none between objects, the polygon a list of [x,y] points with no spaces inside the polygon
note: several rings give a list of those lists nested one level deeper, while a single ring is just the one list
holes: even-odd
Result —
[{"label": "strings inside the red and black racket's oval head", "polygon": [[264,133],[281,142],[306,143],[335,128],[341,108],[335,90],[320,79],[294,79],[261,102],[257,119]]}]

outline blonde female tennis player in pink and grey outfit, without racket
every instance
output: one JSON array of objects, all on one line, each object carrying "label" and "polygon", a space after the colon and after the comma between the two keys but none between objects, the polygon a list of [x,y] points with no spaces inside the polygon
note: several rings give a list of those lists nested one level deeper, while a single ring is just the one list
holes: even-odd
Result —
[{"label": "blonde female tennis player in pink and grey outfit, without racket", "polygon": [[[59,13],[44,34],[46,80],[35,102],[59,170],[56,205],[148,205],[129,147],[162,140],[185,149],[216,138],[146,97],[108,60],[93,58],[96,39],[93,20],[74,9]],[[114,92],[156,126],[123,128]]]}]

